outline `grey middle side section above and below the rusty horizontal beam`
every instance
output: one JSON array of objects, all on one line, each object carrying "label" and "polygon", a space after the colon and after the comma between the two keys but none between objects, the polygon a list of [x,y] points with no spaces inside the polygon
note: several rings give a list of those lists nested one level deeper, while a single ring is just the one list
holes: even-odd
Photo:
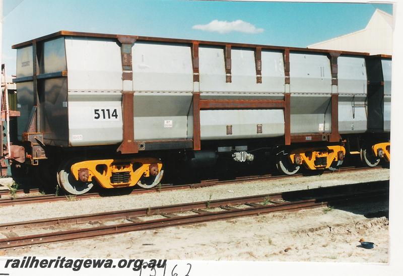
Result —
[{"label": "grey middle side section above and below the rusty horizontal beam", "polygon": [[[200,46],[199,66],[200,99],[284,99],[285,73],[281,51],[261,51],[261,83],[256,82],[253,49],[237,47],[231,49],[231,82],[226,82],[223,47]],[[230,130],[227,130],[228,127]],[[284,111],[283,109],[201,110],[200,133],[201,140],[282,136]]]}]

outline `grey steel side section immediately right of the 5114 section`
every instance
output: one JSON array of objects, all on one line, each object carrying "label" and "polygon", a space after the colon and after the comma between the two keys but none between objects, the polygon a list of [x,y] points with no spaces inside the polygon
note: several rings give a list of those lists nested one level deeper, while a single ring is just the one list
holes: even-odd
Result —
[{"label": "grey steel side section immediately right of the 5114 section", "polygon": [[131,48],[136,141],[186,139],[193,69],[188,44],[136,41]]}]

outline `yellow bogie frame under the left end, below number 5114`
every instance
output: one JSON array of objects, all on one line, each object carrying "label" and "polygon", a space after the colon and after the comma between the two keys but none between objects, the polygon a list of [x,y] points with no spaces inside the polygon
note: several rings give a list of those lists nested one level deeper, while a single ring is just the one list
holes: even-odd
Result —
[{"label": "yellow bogie frame under the left end, below number 5114", "polygon": [[103,159],[77,162],[71,172],[77,181],[80,172],[85,171],[88,182],[95,178],[102,187],[115,188],[134,186],[143,178],[153,177],[150,168],[157,167],[161,172],[162,162],[157,158]]}]

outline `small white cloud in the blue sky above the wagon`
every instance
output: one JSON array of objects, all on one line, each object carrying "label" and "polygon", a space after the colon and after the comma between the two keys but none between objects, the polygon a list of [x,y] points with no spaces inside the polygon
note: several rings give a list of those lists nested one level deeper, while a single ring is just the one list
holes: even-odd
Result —
[{"label": "small white cloud in the blue sky above the wagon", "polygon": [[262,28],[256,28],[253,24],[249,22],[242,21],[240,19],[235,21],[220,21],[213,20],[209,24],[205,25],[194,25],[192,29],[202,30],[208,32],[218,32],[220,34],[225,34],[229,32],[240,32],[247,34],[257,34],[262,33],[264,30]]}]

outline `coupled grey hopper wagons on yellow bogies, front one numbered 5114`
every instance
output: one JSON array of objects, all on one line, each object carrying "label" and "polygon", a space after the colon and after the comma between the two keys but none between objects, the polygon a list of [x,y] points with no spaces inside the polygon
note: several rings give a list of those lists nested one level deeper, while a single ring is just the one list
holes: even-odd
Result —
[{"label": "coupled grey hopper wagons on yellow bogies, front one numbered 5114", "polygon": [[72,193],[153,187],[166,152],[197,165],[266,149],[287,174],[335,168],[346,148],[389,159],[391,56],[68,31],[13,48],[11,153],[60,163]]}]

